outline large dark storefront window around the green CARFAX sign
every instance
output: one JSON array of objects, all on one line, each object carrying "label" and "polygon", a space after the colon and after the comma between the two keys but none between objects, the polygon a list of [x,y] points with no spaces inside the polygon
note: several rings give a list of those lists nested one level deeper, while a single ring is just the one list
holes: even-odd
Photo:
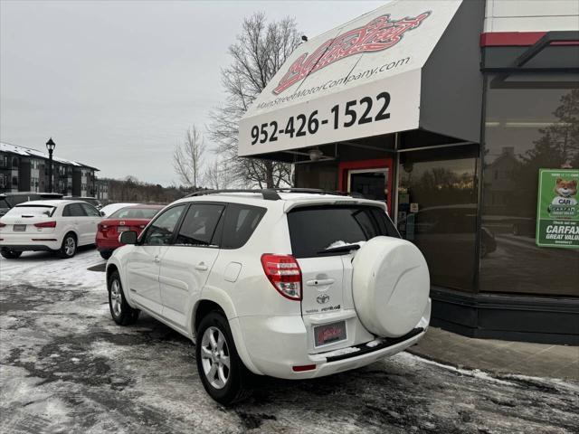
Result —
[{"label": "large dark storefront window around the green CARFAX sign", "polygon": [[482,228],[496,250],[481,250],[479,290],[579,297],[579,250],[535,241],[539,169],[579,168],[579,89],[494,79],[487,80]]}]

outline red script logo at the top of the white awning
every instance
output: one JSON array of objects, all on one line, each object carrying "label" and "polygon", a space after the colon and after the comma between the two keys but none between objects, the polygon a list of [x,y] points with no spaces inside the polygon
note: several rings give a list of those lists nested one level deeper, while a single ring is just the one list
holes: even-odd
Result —
[{"label": "red script logo at the top of the white awning", "polygon": [[308,56],[303,53],[289,67],[273,93],[279,95],[289,86],[304,79],[309,74],[326,68],[327,65],[340,61],[359,52],[381,52],[402,40],[403,34],[418,27],[431,12],[424,12],[414,18],[405,17],[398,21],[391,20],[390,14],[378,16],[365,26],[350,30],[328,39],[315,52]]}]

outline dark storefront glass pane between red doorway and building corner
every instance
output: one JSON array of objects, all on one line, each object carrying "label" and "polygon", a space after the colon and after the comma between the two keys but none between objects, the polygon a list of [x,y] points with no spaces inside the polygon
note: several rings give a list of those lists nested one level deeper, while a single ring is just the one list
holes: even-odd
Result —
[{"label": "dark storefront glass pane between red doorway and building corner", "polygon": [[435,286],[472,291],[479,146],[402,153],[398,230],[426,258]]}]

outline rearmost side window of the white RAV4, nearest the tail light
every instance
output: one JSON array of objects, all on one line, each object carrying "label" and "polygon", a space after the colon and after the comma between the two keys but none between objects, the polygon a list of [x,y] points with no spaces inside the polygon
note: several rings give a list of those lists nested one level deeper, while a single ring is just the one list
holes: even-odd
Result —
[{"label": "rearmost side window of the white RAV4, nearest the tail light", "polygon": [[252,236],[266,209],[258,206],[230,203],[225,211],[222,249],[239,249]]}]

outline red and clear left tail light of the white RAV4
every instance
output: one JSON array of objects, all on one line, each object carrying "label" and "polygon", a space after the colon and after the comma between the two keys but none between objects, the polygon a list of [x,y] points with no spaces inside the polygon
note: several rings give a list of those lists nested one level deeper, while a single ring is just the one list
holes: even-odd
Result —
[{"label": "red and clear left tail light of the white RAV4", "polygon": [[301,300],[301,269],[291,255],[261,255],[261,266],[273,288],[290,300]]}]

